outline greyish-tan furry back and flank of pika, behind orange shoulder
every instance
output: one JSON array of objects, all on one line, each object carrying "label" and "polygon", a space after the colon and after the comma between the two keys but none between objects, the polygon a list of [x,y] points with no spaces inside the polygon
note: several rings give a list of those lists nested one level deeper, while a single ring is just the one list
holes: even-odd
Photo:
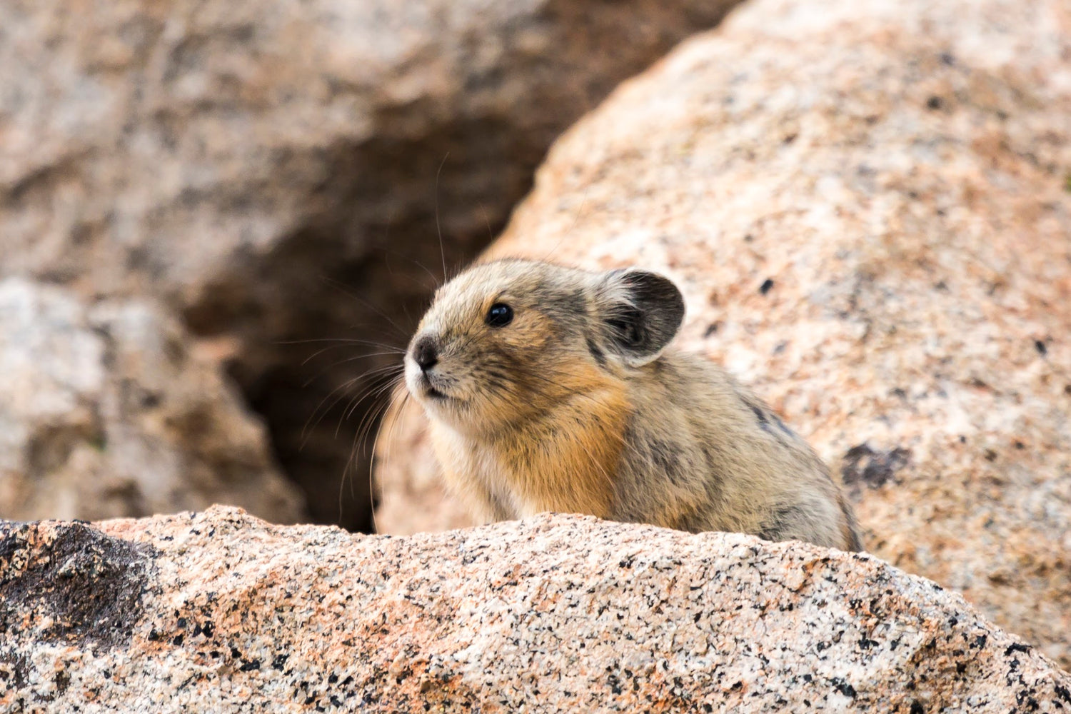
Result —
[{"label": "greyish-tan furry back and flank of pika, behind orange shoulder", "polygon": [[680,530],[862,549],[818,455],[724,369],[667,350],[633,381],[618,470],[621,520],[649,521],[664,510]]}]

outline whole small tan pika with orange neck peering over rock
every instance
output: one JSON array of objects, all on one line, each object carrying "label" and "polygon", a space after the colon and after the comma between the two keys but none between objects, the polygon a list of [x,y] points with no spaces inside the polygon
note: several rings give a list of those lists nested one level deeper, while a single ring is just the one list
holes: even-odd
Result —
[{"label": "whole small tan pika with orange neck peering over rock", "polygon": [[406,351],[448,485],[477,517],[584,513],[861,550],[843,492],[728,373],[670,341],[668,278],[521,259],[446,285]]}]

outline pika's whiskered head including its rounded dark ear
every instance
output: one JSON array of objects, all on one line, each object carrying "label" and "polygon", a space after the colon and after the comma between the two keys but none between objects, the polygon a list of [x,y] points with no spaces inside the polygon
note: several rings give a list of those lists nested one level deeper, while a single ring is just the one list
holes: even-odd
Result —
[{"label": "pika's whiskered head including its rounded dark ear", "polygon": [[683,317],[677,286],[657,273],[478,264],[436,292],[405,355],[406,386],[433,417],[494,430],[629,379]]}]

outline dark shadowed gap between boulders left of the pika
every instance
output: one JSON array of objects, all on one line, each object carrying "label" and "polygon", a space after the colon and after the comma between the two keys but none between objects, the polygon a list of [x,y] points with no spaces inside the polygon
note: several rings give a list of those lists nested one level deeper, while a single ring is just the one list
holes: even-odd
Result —
[{"label": "dark shadowed gap between boulders left of the pika", "polygon": [[255,279],[221,271],[186,310],[196,334],[237,337],[228,371],[314,522],[372,531],[371,452],[401,352],[443,263],[453,275],[479,256],[542,158],[513,134],[481,120],[340,148],[311,201],[323,208]]}]

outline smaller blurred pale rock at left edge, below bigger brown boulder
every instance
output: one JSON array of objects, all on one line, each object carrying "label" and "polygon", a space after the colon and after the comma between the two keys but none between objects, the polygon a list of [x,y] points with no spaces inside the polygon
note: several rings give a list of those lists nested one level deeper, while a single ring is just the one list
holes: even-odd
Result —
[{"label": "smaller blurred pale rock at left edge, below bigger brown boulder", "polygon": [[304,517],[263,426],[159,305],[0,280],[0,517]]}]

